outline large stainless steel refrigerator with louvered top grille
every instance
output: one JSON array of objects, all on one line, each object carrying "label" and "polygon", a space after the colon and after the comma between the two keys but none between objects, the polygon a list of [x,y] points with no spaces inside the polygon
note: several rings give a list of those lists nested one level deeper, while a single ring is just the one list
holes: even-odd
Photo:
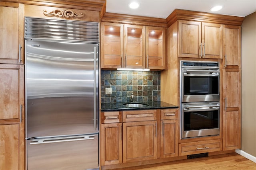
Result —
[{"label": "large stainless steel refrigerator with louvered top grille", "polygon": [[99,23],[25,18],[27,170],[99,167]]}]

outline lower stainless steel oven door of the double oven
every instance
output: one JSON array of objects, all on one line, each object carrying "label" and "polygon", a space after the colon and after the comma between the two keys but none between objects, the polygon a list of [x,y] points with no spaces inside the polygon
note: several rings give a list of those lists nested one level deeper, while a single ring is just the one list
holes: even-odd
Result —
[{"label": "lower stainless steel oven door of the double oven", "polygon": [[220,134],[220,103],[182,104],[182,139]]}]

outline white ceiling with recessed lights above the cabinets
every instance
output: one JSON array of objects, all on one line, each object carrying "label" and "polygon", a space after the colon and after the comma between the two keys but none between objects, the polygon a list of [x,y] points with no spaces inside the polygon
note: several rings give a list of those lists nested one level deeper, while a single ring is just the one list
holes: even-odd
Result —
[{"label": "white ceiling with recessed lights above the cabinets", "polygon": [[[140,4],[130,9],[130,2]],[[210,8],[221,5],[220,11]],[[106,12],[166,19],[174,9],[245,17],[256,12],[256,0],[106,0]]]}]

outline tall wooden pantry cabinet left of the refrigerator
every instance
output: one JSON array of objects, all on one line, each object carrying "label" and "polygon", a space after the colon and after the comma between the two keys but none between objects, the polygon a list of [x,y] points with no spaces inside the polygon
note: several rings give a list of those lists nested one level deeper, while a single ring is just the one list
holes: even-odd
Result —
[{"label": "tall wooden pantry cabinet left of the refrigerator", "polygon": [[24,170],[24,6],[0,2],[0,169]]}]

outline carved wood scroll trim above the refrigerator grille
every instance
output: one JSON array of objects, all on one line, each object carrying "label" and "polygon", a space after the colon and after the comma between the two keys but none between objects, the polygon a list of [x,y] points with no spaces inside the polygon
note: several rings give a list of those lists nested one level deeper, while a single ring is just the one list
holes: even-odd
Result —
[{"label": "carved wood scroll trim above the refrigerator grille", "polygon": [[83,18],[85,16],[84,13],[77,14],[76,12],[72,10],[53,10],[52,12],[47,12],[46,10],[43,10],[43,13],[45,16],[56,16],[60,18]]}]

